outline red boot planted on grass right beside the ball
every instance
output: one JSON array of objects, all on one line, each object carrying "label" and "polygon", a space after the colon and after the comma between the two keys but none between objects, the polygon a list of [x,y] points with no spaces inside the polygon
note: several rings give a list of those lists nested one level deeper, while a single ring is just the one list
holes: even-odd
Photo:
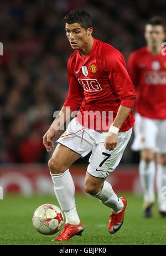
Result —
[{"label": "red boot planted on grass right beside the ball", "polygon": [[66,223],[63,231],[56,237],[53,241],[66,241],[74,235],[82,235],[84,228],[82,227],[81,222],[77,225]]}]

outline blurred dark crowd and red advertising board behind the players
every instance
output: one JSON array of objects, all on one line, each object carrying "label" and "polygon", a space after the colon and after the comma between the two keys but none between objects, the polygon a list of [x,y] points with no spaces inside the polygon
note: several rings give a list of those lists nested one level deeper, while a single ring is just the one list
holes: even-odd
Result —
[{"label": "blurred dark crowd and red advertising board behind the players", "polygon": [[[0,186],[4,193],[53,195],[43,135],[68,93],[67,60],[72,49],[63,18],[83,8],[94,21],[94,37],[125,55],[145,45],[144,23],[166,18],[165,0],[13,0],[0,2]],[[133,139],[133,138],[132,138]],[[132,142],[132,140],[131,140]],[[129,143],[120,166],[109,177],[115,191],[139,193],[138,153]],[[84,191],[89,157],[71,168],[76,191]]]}]

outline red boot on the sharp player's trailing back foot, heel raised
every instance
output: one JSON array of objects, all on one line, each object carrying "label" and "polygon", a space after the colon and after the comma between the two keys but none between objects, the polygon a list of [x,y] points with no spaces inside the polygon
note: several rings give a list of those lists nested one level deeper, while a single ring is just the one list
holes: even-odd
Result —
[{"label": "red boot on the sharp player's trailing back foot, heel raised", "polygon": [[121,226],[123,224],[127,200],[124,197],[120,197],[120,198],[121,198],[124,206],[119,213],[114,213],[114,212],[111,213],[110,221],[108,224],[108,232],[110,232],[110,234],[115,234],[121,228]]}]

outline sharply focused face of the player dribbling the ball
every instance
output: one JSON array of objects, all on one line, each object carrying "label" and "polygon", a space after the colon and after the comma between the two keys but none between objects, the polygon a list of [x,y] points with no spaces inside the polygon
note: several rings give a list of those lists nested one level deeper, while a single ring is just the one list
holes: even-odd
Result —
[{"label": "sharply focused face of the player dribbling the ball", "polygon": [[89,35],[92,33],[92,28],[85,30],[79,23],[66,23],[65,28],[66,36],[72,49],[80,50],[86,46],[89,41]]}]

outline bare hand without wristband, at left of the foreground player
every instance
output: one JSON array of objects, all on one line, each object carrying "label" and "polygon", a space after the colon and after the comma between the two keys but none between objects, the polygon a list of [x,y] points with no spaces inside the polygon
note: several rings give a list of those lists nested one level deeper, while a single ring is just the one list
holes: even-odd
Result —
[{"label": "bare hand without wristband, at left of the foreground player", "polygon": [[56,135],[56,131],[51,126],[50,129],[43,136],[43,144],[44,144],[47,152],[50,152],[54,147],[55,135]]}]

